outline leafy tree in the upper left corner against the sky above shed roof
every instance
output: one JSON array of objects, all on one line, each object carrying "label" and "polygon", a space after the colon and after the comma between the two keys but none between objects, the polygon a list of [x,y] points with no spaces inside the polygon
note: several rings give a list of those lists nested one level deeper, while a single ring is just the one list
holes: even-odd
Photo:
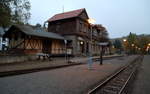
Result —
[{"label": "leafy tree in the upper left corner against the sky above shed roof", "polygon": [[0,0],[0,26],[25,24],[30,18],[28,0]]}]

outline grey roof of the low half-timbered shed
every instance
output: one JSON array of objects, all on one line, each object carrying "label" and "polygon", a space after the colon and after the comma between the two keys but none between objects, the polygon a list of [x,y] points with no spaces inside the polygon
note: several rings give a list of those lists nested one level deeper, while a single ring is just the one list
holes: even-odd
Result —
[{"label": "grey roof of the low half-timbered shed", "polygon": [[[52,32],[46,32],[46,30],[44,28],[37,29],[37,28],[33,28],[29,25],[13,25],[7,32],[11,31],[12,28],[17,28],[26,35],[64,40],[63,36],[58,35],[56,33],[52,33]],[[7,34],[7,32],[6,32],[6,34]]]}]

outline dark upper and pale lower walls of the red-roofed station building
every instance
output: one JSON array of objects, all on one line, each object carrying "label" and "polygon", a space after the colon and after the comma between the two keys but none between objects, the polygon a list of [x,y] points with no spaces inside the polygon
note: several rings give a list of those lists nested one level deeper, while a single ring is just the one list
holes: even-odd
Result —
[{"label": "dark upper and pale lower walls of the red-roofed station building", "polygon": [[[59,29],[57,25],[59,23]],[[84,49],[82,51],[82,46],[86,48],[86,42],[84,37],[88,37],[89,29],[88,24],[81,19],[75,18],[74,20],[66,20],[49,23],[48,27],[49,32],[55,32],[62,34],[66,37],[67,40],[72,41],[72,54],[73,55],[86,55],[87,51]],[[78,37],[81,37],[83,40],[79,40]],[[80,45],[80,42],[83,41],[83,45]],[[61,45],[62,46],[62,45]],[[63,47],[60,47],[60,49]],[[54,51],[53,51],[54,52]]]}]

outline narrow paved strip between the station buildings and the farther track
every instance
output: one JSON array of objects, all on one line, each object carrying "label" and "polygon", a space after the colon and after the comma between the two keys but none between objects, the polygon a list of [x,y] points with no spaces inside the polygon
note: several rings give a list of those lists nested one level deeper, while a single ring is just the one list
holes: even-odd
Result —
[{"label": "narrow paved strip between the station buildings and the farther track", "polygon": [[[114,58],[120,57],[119,55],[109,55],[104,56],[104,58]],[[95,56],[93,58],[99,58],[99,56]],[[70,58],[69,61],[72,63],[67,63],[65,58],[53,58],[52,61],[49,60],[37,60],[37,61],[27,61],[21,63],[10,63],[10,64],[0,64],[0,77],[5,75],[13,75],[20,74],[26,72],[33,72],[38,70],[45,70],[51,68],[60,68],[72,65],[79,65],[82,63],[86,63],[88,60],[87,57],[74,57]]]}]

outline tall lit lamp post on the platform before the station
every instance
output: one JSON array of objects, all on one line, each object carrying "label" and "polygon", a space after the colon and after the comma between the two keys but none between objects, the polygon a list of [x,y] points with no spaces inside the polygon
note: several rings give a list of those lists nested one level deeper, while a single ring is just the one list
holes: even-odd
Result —
[{"label": "tall lit lamp post on the platform before the station", "polygon": [[95,23],[95,20],[94,19],[88,19],[88,23],[90,24],[90,50],[89,50],[89,60],[88,60],[88,68],[91,69],[92,67],[92,24]]}]

